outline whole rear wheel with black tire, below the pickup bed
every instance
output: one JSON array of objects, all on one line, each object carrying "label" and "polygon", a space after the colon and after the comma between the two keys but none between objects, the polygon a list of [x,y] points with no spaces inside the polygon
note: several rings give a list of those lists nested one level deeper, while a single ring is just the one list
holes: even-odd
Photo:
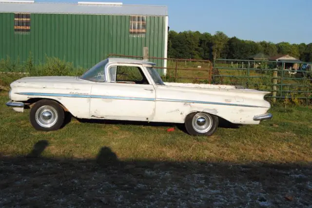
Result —
[{"label": "whole rear wheel with black tire, below the pickup bed", "polygon": [[218,121],[218,117],[215,115],[194,112],[185,118],[185,128],[192,136],[211,136],[218,127]]}]

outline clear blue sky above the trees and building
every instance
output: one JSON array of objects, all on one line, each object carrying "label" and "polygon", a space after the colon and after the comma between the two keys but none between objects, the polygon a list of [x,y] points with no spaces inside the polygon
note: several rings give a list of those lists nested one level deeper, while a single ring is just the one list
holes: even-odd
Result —
[{"label": "clear blue sky above the trees and building", "polygon": [[[77,2],[78,0],[36,0]],[[254,41],[312,43],[312,0],[81,0],[166,5],[170,30]]]}]

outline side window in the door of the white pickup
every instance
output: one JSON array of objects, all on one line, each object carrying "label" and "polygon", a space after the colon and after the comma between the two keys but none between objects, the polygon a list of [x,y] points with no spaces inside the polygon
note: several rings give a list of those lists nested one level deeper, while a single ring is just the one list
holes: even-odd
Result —
[{"label": "side window in the door of the white pickup", "polygon": [[111,82],[148,85],[141,68],[135,66],[112,66],[109,68]]}]

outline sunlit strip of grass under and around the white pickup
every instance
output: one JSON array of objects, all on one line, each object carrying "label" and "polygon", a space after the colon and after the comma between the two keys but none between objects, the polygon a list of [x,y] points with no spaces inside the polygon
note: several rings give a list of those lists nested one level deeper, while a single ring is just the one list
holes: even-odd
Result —
[{"label": "sunlit strip of grass under and around the white pickup", "polygon": [[[29,110],[18,113],[5,106],[0,92],[0,153],[29,154],[36,142],[48,141],[42,156],[95,158],[110,147],[122,161],[204,161],[231,163],[311,163],[312,109],[306,106],[272,108],[273,119],[259,125],[218,128],[212,137],[191,137],[175,124],[72,119],[54,132],[39,132],[29,122]],[[167,132],[175,127],[174,132]]]}]

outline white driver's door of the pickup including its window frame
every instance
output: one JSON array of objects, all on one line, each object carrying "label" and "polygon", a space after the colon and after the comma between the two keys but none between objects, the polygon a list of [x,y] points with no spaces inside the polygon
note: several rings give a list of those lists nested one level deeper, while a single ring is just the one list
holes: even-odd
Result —
[{"label": "white driver's door of the pickup including its window frame", "polygon": [[92,87],[90,116],[93,118],[149,121],[154,116],[156,93],[140,65],[107,67],[108,79]]}]

